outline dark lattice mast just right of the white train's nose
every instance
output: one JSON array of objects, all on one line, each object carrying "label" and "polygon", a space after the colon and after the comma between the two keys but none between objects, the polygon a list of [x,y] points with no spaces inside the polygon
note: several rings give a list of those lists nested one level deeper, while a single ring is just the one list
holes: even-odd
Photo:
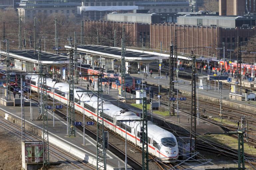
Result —
[{"label": "dark lattice mast just right of the white train's nose", "polygon": [[190,153],[196,151],[196,68],[195,56],[191,51],[192,57],[192,82],[191,82],[191,117],[190,117]]}]

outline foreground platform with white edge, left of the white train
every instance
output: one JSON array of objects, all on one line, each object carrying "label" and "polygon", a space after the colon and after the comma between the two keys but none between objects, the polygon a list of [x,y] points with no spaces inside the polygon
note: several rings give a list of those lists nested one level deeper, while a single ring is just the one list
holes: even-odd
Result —
[{"label": "foreground platform with white edge, left of the white train", "polygon": [[[13,95],[11,95],[13,99]],[[19,97],[19,96],[18,96]],[[16,98],[18,98],[16,95]],[[36,120],[38,116],[38,105],[32,102],[33,118],[30,114],[30,107],[24,107],[25,113],[25,127],[26,130],[32,130],[39,136],[42,135],[43,121]],[[20,106],[3,106],[0,105],[0,115],[5,117],[11,122],[21,124],[21,107]],[[85,145],[83,145],[83,132],[79,129],[76,130],[76,137],[69,137],[67,135],[67,122],[63,119],[63,115],[55,114],[55,126],[53,127],[53,115],[48,111],[48,130],[49,130],[49,143],[54,144],[63,150],[75,155],[80,160],[84,160],[94,166],[97,164],[96,160],[96,141],[89,135],[85,135]],[[65,116],[64,116],[65,117]],[[19,122],[19,123],[18,123]],[[96,126],[96,125],[94,125]],[[125,162],[118,156],[107,150],[107,169],[125,169]],[[128,165],[128,169],[131,167]]]}]

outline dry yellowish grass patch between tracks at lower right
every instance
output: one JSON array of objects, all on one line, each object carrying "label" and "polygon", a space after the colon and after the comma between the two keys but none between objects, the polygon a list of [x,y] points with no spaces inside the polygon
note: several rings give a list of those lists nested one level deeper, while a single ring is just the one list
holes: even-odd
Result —
[{"label": "dry yellowish grass patch between tracks at lower right", "polygon": [[[228,146],[232,149],[237,150],[238,149],[238,139],[233,138],[232,136],[228,135],[204,135],[202,136],[206,139],[209,139],[210,141],[219,143],[224,146]],[[249,146],[248,143],[246,143],[246,140],[244,138],[244,153],[250,154],[250,155],[256,155],[256,149],[253,148],[253,146]]]}]

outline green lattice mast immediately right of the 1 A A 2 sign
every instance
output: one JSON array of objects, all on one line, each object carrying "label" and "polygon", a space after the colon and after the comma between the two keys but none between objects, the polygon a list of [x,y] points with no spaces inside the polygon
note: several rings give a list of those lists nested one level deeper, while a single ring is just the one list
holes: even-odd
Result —
[{"label": "green lattice mast immediately right of the 1 A A 2 sign", "polygon": [[[101,69],[102,71],[102,69]],[[102,74],[98,76],[98,107],[97,107],[97,169],[106,170],[106,148],[103,143],[104,116],[102,99]]]}]

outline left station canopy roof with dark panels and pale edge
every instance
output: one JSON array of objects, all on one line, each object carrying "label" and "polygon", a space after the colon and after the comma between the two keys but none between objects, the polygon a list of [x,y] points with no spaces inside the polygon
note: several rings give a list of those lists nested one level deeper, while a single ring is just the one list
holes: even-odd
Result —
[{"label": "left station canopy roof with dark panels and pale edge", "polygon": [[[0,51],[0,53],[6,55],[5,51]],[[38,63],[38,51],[34,54],[34,50],[9,50],[9,55],[11,58]],[[41,58],[42,64],[64,64],[69,62],[67,56],[48,52],[41,52]]]}]

